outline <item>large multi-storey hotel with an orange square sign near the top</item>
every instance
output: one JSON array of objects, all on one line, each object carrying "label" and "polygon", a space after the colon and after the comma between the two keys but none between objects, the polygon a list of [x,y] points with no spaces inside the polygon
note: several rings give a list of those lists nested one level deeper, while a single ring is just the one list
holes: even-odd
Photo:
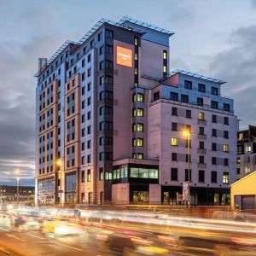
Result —
[{"label": "large multi-storey hotel with an orange square sign near the top", "polygon": [[100,20],[39,59],[37,203],[170,202],[188,177],[198,202],[227,201],[233,101],[220,96],[224,81],[169,72],[172,34],[128,17]]}]

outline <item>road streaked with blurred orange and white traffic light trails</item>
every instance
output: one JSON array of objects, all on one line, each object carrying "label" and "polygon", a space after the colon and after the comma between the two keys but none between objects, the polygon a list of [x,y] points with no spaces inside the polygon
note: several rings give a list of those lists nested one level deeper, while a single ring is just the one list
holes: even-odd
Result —
[{"label": "road streaked with blurred orange and white traffic light trails", "polygon": [[[58,234],[49,231],[52,225],[58,227]],[[246,224],[208,224],[185,218],[166,225],[150,218],[140,222],[90,218],[15,226],[8,216],[0,215],[0,255],[250,256],[256,255],[255,230]]]}]

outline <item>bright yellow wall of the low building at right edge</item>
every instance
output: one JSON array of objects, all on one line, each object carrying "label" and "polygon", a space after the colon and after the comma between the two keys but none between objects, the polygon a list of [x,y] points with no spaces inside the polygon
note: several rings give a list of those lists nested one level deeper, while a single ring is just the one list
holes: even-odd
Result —
[{"label": "bright yellow wall of the low building at right edge", "polygon": [[231,184],[231,208],[234,209],[235,195],[256,195],[256,172],[253,172],[236,183]]}]

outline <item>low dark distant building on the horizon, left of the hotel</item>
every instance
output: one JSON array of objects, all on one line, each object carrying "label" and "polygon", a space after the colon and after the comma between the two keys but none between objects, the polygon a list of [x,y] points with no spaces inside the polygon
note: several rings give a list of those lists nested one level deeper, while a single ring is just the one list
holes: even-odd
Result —
[{"label": "low dark distant building on the horizon, left of the hotel", "polygon": [[[19,193],[17,193],[19,191]],[[0,185],[0,201],[34,201],[35,188],[32,186],[17,186]]]}]

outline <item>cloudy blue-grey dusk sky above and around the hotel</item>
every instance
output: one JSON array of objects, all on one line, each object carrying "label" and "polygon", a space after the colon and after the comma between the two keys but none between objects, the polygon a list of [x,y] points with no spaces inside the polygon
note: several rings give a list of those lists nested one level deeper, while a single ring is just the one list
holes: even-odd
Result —
[{"label": "cloudy blue-grey dusk sky above and around the hotel", "polygon": [[0,0],[0,184],[33,184],[38,57],[79,40],[102,17],[175,32],[171,70],[227,81],[241,128],[256,125],[256,0]]}]

